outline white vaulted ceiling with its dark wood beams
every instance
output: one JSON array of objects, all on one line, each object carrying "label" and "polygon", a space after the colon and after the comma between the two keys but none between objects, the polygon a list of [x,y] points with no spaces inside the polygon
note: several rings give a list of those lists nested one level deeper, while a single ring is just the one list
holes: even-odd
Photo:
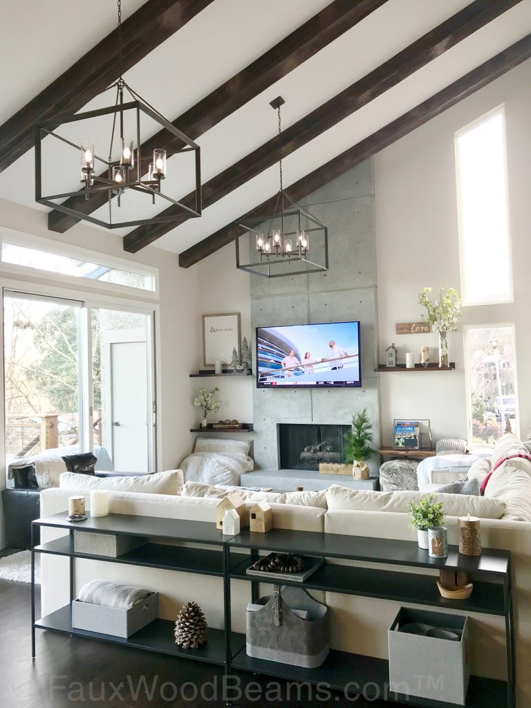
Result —
[{"label": "white vaulted ceiling with its dark wood beams", "polygon": [[[46,209],[33,123],[104,105],[94,96],[118,78],[115,4],[18,0],[1,13],[0,198]],[[200,144],[205,208],[118,236],[129,251],[181,253],[184,267],[226,244],[234,219],[267,209],[279,148],[299,198],[531,56],[531,0],[122,0],[122,16],[125,79]],[[192,183],[178,159],[164,186],[182,199]],[[52,182],[68,172],[62,156],[54,170]],[[49,215],[57,232],[75,224]]]}]

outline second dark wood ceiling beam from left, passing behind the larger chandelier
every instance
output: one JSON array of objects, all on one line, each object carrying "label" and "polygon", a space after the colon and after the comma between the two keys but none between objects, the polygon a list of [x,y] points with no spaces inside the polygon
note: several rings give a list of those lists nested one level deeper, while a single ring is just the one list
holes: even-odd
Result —
[{"label": "second dark wood ceiling beam from left, passing behind the larger chandelier", "polygon": [[[197,139],[386,2],[335,0],[248,67],[232,76],[232,79],[186,110],[173,121],[173,125],[191,139]],[[170,157],[183,144],[167,130],[159,130],[141,146],[143,174],[147,174],[153,150],[160,147],[164,147]],[[81,194],[80,197],[69,198],[64,206],[91,214],[105,205],[107,199],[108,195],[103,192],[93,194],[88,201]],[[79,220],[59,210],[52,210],[48,215],[48,229],[64,234]]]}]

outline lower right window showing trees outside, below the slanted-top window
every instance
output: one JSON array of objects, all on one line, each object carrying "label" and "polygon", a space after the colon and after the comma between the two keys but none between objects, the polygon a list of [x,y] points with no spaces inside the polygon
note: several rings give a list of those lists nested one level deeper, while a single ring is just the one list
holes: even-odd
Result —
[{"label": "lower right window showing trees outside, below the slanted-top window", "polygon": [[493,445],[506,430],[518,433],[513,326],[467,329],[469,439]]}]

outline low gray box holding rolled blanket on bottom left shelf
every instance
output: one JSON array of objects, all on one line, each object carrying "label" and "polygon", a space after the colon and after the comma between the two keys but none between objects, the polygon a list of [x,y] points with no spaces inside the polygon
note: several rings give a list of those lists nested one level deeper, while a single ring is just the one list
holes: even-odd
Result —
[{"label": "low gray box holding rolled blanket on bottom left shelf", "polygon": [[72,627],[85,629],[86,632],[111,634],[127,639],[149,622],[159,617],[159,593],[140,600],[129,610],[117,610],[115,607],[91,605],[74,600],[72,603]]}]

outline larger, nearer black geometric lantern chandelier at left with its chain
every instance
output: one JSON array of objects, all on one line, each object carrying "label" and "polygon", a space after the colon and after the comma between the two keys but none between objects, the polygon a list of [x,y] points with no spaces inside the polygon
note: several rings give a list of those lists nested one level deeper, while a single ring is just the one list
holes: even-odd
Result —
[{"label": "larger, nearer black geometric lantern chandelier at left with its chain", "polygon": [[[120,42],[120,78],[115,84],[108,86],[105,91],[115,89],[115,103],[106,108],[88,110],[84,113],[64,113],[55,116],[52,120],[42,122],[35,127],[35,200],[40,204],[52,207],[52,209],[64,212],[76,219],[84,219],[98,226],[108,229],[118,229],[133,227],[141,224],[158,224],[182,219],[183,215],[188,217],[199,217],[201,215],[201,170],[200,170],[200,147],[193,142],[183,132],[174,127],[169,120],[153,108],[152,105],[144,101],[123,79],[121,67],[122,55],[122,10],[121,0],[118,0],[118,40]],[[102,91],[100,96],[105,93]],[[149,154],[141,152],[141,120],[149,122],[149,129],[164,129],[170,134],[172,142],[171,154],[179,155],[185,152],[194,154],[194,180],[195,180],[195,205],[190,208],[171,198],[162,191],[162,182],[166,178],[166,149],[164,147],[154,148]],[[69,137],[59,135],[59,127],[66,126],[73,132],[75,125],[81,125],[83,130],[87,130],[87,122],[91,120],[107,121],[110,130],[110,147],[108,158],[98,155],[91,140],[74,142]],[[72,124],[70,126],[69,124]],[[126,124],[128,132],[126,134]],[[101,122],[97,130],[101,132]],[[127,135],[135,135],[134,138]],[[42,165],[45,159],[43,155],[42,141],[45,137],[52,136],[62,144],[66,144],[81,154],[81,190],[73,192],[55,193],[52,195],[42,195],[43,174]],[[157,132],[156,138],[159,137]],[[50,149],[47,154],[49,156]],[[72,151],[69,150],[69,154]],[[66,158],[64,158],[66,159]],[[68,158],[70,160],[70,158]],[[70,162],[69,162],[70,164]],[[79,169],[79,168],[76,168]],[[74,167],[69,171],[68,177],[74,175]],[[84,211],[76,210],[72,206],[65,205],[61,200],[69,198],[79,198],[81,201],[90,200],[93,195],[106,193],[108,202],[108,219],[97,216],[90,216]],[[151,218],[129,218],[120,219],[113,213],[122,206],[122,198],[127,193],[141,193],[148,198],[152,204],[156,200],[165,200],[169,204],[182,207],[182,211],[176,215],[162,216],[154,215]],[[98,206],[100,202],[98,201]],[[113,205],[117,207],[113,210]],[[119,212],[118,212],[119,213]]]}]

